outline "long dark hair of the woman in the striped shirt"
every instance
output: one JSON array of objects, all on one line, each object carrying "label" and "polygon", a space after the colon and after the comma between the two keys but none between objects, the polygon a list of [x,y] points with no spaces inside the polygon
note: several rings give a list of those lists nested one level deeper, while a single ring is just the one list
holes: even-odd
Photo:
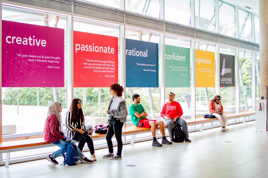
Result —
[{"label": "long dark hair of the woman in the striped shirt", "polygon": [[84,122],[84,114],[82,108],[78,109],[77,104],[78,102],[81,102],[81,99],[75,98],[72,100],[70,111],[72,113],[71,122]]}]

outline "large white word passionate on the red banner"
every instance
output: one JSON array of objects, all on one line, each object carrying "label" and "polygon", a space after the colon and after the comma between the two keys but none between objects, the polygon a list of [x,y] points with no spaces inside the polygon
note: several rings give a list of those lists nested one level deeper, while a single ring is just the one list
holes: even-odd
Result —
[{"label": "large white word passionate on the red banner", "polygon": [[[111,49],[111,50],[110,50]],[[92,45],[84,45],[84,44],[75,44],[75,52],[77,53],[77,51],[92,51],[92,52],[100,52],[100,53],[114,53],[114,48],[110,48],[110,46],[108,47],[98,47],[98,46],[94,46],[94,43],[92,43]]]}]

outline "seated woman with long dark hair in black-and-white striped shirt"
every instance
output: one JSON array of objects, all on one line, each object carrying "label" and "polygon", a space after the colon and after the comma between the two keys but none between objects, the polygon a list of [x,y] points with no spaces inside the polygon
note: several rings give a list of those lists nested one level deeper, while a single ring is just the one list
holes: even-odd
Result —
[{"label": "seated woman with long dark hair in black-and-white striped shirt", "polygon": [[82,111],[82,102],[75,98],[72,100],[70,110],[66,115],[66,136],[79,142],[78,148],[82,151],[85,143],[90,150],[91,160],[96,161],[92,138],[85,131],[85,118]]}]

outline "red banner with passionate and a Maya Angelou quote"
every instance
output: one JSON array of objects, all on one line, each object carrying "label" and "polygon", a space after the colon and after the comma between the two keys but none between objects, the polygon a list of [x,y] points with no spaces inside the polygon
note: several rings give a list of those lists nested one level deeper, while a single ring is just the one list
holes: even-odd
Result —
[{"label": "red banner with passionate and a Maya Angelou quote", "polygon": [[73,32],[74,87],[110,87],[118,83],[118,38]]}]

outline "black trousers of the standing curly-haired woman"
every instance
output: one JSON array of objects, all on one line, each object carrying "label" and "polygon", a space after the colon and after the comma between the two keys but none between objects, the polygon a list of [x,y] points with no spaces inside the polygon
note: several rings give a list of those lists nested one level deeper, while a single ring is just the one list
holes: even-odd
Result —
[{"label": "black trousers of the standing curly-haired woman", "polygon": [[109,129],[106,134],[106,141],[109,149],[109,153],[113,153],[113,142],[112,137],[115,134],[116,135],[116,141],[117,141],[117,155],[121,156],[122,148],[123,148],[123,142],[122,142],[122,128],[124,123],[120,122],[120,120],[116,120],[116,118],[112,117],[112,121],[110,123]]}]

